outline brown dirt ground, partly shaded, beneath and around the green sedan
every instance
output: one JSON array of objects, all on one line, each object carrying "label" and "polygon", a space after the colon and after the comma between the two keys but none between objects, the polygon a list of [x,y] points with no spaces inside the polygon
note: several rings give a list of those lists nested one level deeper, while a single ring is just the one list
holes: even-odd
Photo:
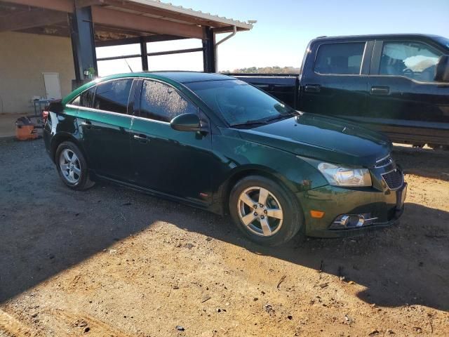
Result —
[{"label": "brown dirt ground, partly shaded, beneath and around the green sedan", "polygon": [[449,336],[449,152],[396,147],[401,223],[265,249],[229,218],[67,189],[0,140],[0,336]]}]

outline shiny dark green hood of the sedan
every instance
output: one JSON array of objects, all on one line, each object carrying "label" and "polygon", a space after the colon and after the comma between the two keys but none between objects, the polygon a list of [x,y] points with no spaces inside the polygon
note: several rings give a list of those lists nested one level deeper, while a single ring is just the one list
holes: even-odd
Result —
[{"label": "shiny dark green hood of the sedan", "polygon": [[343,119],[302,113],[251,129],[245,140],[335,164],[373,166],[391,151],[388,138]]}]

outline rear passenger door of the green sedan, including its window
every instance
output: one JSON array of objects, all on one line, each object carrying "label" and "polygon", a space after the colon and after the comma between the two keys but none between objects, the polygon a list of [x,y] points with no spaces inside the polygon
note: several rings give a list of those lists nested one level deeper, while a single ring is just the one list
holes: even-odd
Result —
[{"label": "rear passenger door of the green sedan, including its window", "polygon": [[[81,138],[88,162],[100,176],[130,181],[130,127],[133,79],[115,79],[95,86],[91,107],[79,106]],[[81,96],[82,97],[82,96]]]}]

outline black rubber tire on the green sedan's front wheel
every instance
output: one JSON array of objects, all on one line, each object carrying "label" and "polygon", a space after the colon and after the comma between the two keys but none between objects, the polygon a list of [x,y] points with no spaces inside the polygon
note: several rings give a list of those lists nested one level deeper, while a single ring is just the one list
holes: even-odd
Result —
[{"label": "black rubber tire on the green sedan's front wheel", "polygon": [[[271,199],[271,202],[274,203],[274,205],[279,203],[281,206],[279,208],[281,209],[283,219],[279,229],[276,227],[276,223],[279,223],[279,219],[267,217],[267,220],[274,224],[274,227],[271,227],[271,224],[269,226],[274,233],[269,234],[269,236],[265,236],[265,234],[262,233],[262,220],[260,220],[260,218],[263,217],[257,213],[257,209],[250,209],[248,204],[243,203],[240,199],[245,191],[253,193],[255,198],[258,198],[257,190],[253,189],[253,187],[262,187],[262,189],[269,191],[269,199]],[[262,207],[262,211],[266,213],[267,209]],[[253,215],[257,213],[259,218],[253,221],[253,223],[250,223],[250,225],[245,225],[241,220],[241,215],[242,213],[247,213],[246,215],[250,216],[249,213],[251,212],[253,212]],[[293,192],[290,192],[290,190],[284,188],[274,180],[263,176],[248,176],[236,183],[229,195],[229,213],[236,226],[239,227],[239,230],[241,230],[246,237],[263,246],[279,246],[280,244],[288,242],[300,231],[304,223],[302,209]],[[260,226],[260,229],[257,226]],[[260,232],[257,234],[257,231]]]}]

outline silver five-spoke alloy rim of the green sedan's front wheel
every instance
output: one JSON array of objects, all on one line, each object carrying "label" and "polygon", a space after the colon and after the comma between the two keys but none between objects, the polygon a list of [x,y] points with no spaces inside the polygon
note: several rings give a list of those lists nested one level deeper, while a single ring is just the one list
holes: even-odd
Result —
[{"label": "silver five-spoke alloy rim of the green sedan's front wheel", "polygon": [[266,188],[248,187],[241,192],[237,207],[241,223],[253,234],[271,237],[281,229],[281,204]]}]

